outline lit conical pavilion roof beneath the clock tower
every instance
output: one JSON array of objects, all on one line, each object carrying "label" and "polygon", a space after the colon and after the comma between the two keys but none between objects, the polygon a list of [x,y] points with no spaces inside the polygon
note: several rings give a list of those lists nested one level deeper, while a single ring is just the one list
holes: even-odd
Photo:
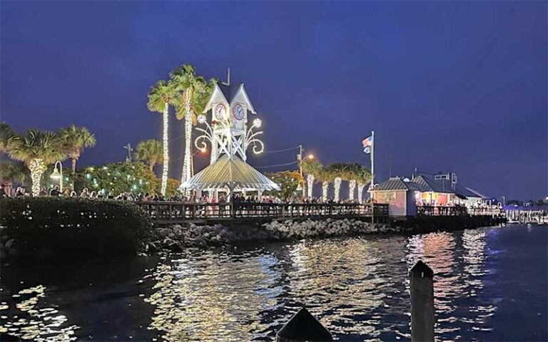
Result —
[{"label": "lit conical pavilion roof beneath the clock tower", "polygon": [[221,156],[192,177],[187,184],[193,190],[280,190],[280,187],[251,165],[234,156]]}]

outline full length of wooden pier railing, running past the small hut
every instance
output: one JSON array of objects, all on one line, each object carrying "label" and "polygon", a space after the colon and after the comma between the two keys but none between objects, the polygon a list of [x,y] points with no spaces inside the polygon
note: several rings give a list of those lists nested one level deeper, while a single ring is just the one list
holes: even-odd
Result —
[{"label": "full length of wooden pier railing, running past the small hut", "polygon": [[[187,203],[136,202],[155,224],[209,224],[217,222],[270,222],[278,220],[359,218],[375,223],[395,220],[388,215],[388,204],[354,203]],[[417,207],[416,217],[405,217],[407,222],[445,222],[458,218],[459,222],[493,222],[505,220],[504,210],[498,208],[467,209],[465,207]],[[445,218],[445,219],[444,219]]]}]

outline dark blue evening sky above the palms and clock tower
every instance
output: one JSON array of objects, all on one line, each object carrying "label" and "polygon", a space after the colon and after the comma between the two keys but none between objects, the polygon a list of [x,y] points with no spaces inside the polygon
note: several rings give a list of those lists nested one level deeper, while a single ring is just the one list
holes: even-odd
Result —
[{"label": "dark blue evening sky above the palms and clock tower", "polygon": [[[148,88],[193,63],[206,78],[230,66],[245,83],[268,150],[303,143],[325,164],[369,165],[360,143],[375,130],[377,180],[391,163],[392,175],[452,170],[496,197],[547,195],[544,1],[0,6],[1,120],[87,126],[98,144],[80,165],[160,138]],[[183,123],[171,118],[177,138]],[[182,144],[171,142],[172,177]]]}]

